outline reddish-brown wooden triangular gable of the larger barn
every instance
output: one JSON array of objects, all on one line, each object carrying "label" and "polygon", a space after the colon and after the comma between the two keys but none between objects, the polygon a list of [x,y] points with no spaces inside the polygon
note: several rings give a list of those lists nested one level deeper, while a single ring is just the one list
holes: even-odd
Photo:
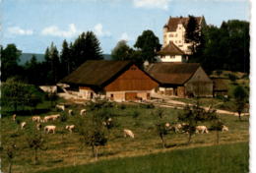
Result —
[{"label": "reddish-brown wooden triangular gable of the larger barn", "polygon": [[133,65],[129,70],[120,75],[112,83],[104,87],[106,91],[122,90],[152,90],[159,84],[152,80],[148,75]]}]

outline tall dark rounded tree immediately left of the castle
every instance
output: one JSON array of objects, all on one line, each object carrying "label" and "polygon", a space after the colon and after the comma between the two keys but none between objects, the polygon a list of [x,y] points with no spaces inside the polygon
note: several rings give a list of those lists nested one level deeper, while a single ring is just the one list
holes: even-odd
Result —
[{"label": "tall dark rounded tree immediately left of the castle", "polygon": [[160,50],[160,39],[152,30],[144,30],[138,36],[134,47],[141,51],[141,58],[144,61],[156,62],[157,52]]}]

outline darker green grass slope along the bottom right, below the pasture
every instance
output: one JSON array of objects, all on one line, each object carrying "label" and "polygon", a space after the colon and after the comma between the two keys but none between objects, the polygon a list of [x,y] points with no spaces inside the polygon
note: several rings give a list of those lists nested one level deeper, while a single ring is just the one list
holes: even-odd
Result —
[{"label": "darker green grass slope along the bottom right, below the pasture", "polygon": [[103,160],[40,173],[223,173],[248,172],[249,145],[223,144],[177,149],[139,157]]}]

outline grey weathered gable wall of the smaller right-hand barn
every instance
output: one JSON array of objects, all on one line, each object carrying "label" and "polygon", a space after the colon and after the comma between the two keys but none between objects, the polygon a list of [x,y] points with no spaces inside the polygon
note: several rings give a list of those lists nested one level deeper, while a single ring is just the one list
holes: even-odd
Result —
[{"label": "grey weathered gable wall of the smaller right-hand barn", "polygon": [[184,86],[187,95],[213,96],[213,82],[201,67]]}]

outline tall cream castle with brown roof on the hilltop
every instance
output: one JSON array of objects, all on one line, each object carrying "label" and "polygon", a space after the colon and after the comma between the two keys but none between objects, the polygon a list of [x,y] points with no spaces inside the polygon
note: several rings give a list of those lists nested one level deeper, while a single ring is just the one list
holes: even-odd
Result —
[{"label": "tall cream castle with brown roof on the hilltop", "polygon": [[[199,29],[203,29],[206,26],[204,17],[195,17]],[[190,42],[185,41],[186,26],[188,24],[189,18],[184,17],[169,17],[168,22],[163,26],[163,45],[165,47],[172,41],[176,46],[178,46],[186,54],[190,54],[189,46]]]}]

